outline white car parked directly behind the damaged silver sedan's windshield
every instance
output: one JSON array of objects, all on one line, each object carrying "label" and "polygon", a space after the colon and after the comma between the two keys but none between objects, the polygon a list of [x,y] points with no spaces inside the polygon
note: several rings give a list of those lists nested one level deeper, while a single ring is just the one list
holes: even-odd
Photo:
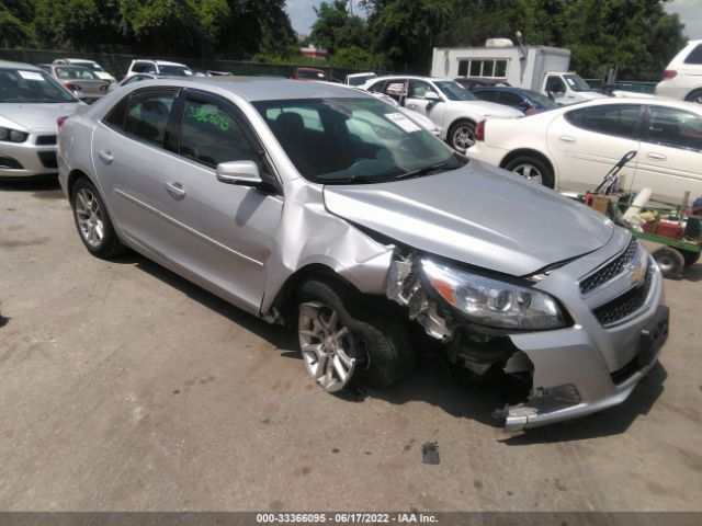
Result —
[{"label": "white car parked directly behind the damaged silver sedan's windshield", "polygon": [[389,95],[407,110],[428,116],[439,129],[441,138],[462,152],[475,144],[475,127],[480,121],[524,116],[519,110],[480,101],[450,79],[380,77],[367,81],[362,88]]}]

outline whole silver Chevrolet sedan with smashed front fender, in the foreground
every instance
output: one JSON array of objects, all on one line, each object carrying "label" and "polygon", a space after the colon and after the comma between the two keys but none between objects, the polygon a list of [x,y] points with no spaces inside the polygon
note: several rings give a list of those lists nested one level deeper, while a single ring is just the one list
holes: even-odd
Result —
[{"label": "whole silver Chevrolet sedan with smashed front fender, in the foreground", "polygon": [[520,379],[506,426],[536,426],[622,402],[668,333],[629,232],[348,88],[138,82],[66,121],[59,171],[89,252],[127,245],[295,325],[326,391],[399,380],[415,324]]}]

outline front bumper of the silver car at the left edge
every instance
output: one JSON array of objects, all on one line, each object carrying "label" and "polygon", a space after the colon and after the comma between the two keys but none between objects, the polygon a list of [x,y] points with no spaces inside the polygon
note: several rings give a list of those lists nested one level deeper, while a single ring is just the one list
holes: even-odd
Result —
[{"label": "front bumper of the silver car at the left edge", "polygon": [[32,130],[24,142],[0,141],[0,178],[25,179],[56,173],[56,129]]}]

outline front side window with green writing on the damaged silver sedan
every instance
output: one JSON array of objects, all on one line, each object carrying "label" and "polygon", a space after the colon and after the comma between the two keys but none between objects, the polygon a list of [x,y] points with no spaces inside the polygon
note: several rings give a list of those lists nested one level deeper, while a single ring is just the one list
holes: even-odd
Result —
[{"label": "front side window with green writing on the damaged silver sedan", "polygon": [[213,168],[228,161],[260,163],[237,121],[217,104],[200,101],[185,103],[180,155]]}]

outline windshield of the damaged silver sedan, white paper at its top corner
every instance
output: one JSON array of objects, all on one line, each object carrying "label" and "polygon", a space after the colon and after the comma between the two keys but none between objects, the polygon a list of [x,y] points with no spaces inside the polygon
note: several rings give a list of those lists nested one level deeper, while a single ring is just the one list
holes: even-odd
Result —
[{"label": "windshield of the damaged silver sedan, white paper at its top corner", "polygon": [[465,163],[430,133],[375,99],[302,99],[253,105],[297,171],[316,183],[377,183]]}]

